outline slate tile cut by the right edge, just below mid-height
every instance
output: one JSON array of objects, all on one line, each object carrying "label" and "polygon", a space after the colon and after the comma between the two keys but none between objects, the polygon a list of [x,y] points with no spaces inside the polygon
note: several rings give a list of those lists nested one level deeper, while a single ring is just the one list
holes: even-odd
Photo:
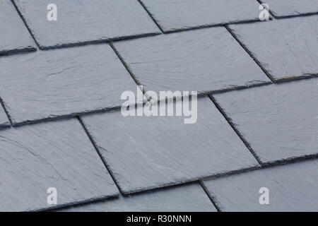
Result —
[{"label": "slate tile cut by the right edge, just below mid-height", "polygon": [[317,79],[213,96],[262,162],[318,154]]}]

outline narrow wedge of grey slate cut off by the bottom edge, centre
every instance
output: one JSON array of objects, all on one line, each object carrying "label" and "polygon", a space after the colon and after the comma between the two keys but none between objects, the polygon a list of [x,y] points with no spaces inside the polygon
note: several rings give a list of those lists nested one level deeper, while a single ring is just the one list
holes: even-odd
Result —
[{"label": "narrow wedge of grey slate cut off by the bottom edge, centre", "polygon": [[120,196],[119,198],[68,208],[72,212],[216,212],[208,196],[199,184],[177,186],[143,194]]}]

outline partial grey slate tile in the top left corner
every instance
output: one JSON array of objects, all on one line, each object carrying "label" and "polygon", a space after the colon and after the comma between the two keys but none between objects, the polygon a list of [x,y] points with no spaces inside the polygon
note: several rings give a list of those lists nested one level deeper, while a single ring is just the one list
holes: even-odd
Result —
[{"label": "partial grey slate tile in the top left corner", "polygon": [[0,0],[0,54],[35,50],[35,43],[11,1]]}]

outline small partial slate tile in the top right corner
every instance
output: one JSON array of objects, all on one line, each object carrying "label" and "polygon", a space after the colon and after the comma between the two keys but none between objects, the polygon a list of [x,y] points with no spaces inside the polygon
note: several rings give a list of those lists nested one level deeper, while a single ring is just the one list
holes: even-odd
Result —
[{"label": "small partial slate tile in the top right corner", "polygon": [[264,0],[276,18],[318,13],[317,0]]}]

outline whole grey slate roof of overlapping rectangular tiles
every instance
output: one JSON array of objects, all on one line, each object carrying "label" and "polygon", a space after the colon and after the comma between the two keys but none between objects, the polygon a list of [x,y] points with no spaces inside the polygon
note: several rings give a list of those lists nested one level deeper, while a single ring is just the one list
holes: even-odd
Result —
[{"label": "whole grey slate roof of overlapping rectangular tiles", "polygon": [[[0,211],[318,211],[317,0],[51,3],[0,0]],[[196,123],[123,117],[137,85]]]}]

